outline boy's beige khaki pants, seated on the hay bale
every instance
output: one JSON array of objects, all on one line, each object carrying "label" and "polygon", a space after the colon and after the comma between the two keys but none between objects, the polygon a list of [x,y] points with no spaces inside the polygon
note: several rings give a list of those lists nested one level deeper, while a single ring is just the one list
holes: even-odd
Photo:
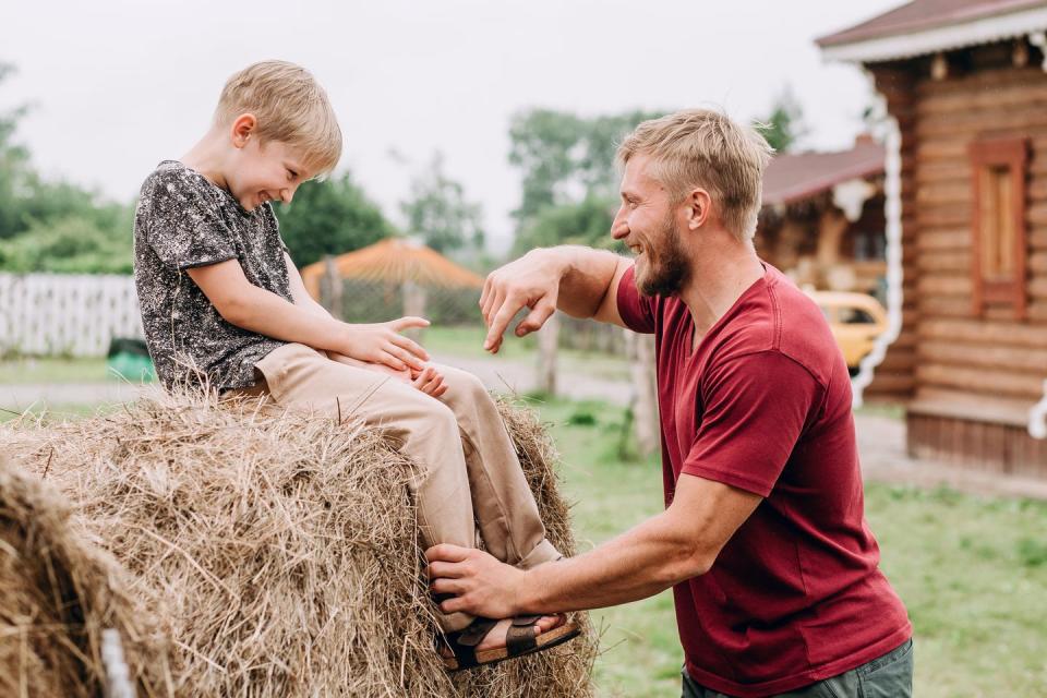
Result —
[{"label": "boy's beige khaki pants, seated on the hay bale", "polygon": [[[360,418],[397,438],[420,468],[411,482],[425,547],[476,546],[479,525],[488,551],[528,569],[561,557],[545,539],[538,505],[494,400],[472,374],[437,366],[447,392],[425,395],[394,376],[332,361],[300,344],[276,349],[256,368],[277,406]],[[441,615],[445,631],[472,621]]]}]

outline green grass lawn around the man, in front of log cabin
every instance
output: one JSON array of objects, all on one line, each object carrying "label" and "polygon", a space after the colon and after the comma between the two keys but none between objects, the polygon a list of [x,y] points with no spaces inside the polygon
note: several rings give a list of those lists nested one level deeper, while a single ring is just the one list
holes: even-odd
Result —
[{"label": "green grass lawn around the man, in front of log cabin", "polygon": [[[582,550],[661,509],[660,466],[618,458],[619,408],[538,407],[554,424]],[[870,483],[866,507],[916,630],[915,695],[1047,696],[1047,503]],[[599,695],[679,696],[670,594],[593,619],[606,628]]]}]

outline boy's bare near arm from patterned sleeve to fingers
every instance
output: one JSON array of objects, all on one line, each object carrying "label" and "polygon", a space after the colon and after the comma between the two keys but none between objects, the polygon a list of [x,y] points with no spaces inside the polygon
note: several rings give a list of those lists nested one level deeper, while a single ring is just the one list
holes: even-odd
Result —
[{"label": "boy's bare near arm from patterned sleeve to fingers", "polygon": [[421,371],[424,369],[422,362],[429,360],[424,349],[399,334],[408,327],[426,326],[429,322],[421,317],[349,325],[335,320],[326,311],[322,316],[312,306],[306,310],[254,286],[236,260],[191,267],[185,272],[222,318],[237,327],[314,349],[336,351],[360,361],[384,363],[398,371],[407,368]]}]

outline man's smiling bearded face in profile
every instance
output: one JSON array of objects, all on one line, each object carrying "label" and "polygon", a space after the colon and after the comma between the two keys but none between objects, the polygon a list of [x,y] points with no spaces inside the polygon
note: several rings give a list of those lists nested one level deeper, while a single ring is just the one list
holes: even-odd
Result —
[{"label": "man's smiling bearded face in profile", "polygon": [[636,287],[645,296],[678,293],[690,275],[679,243],[678,207],[669,192],[647,174],[649,158],[637,155],[625,166],[622,206],[611,234],[636,254]]}]

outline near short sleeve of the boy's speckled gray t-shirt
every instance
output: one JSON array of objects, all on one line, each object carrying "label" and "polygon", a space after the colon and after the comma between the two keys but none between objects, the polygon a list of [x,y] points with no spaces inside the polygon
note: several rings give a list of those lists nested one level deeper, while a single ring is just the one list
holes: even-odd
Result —
[{"label": "near short sleeve of the boy's speckled gray t-shirt", "polygon": [[174,269],[218,264],[237,256],[232,232],[195,176],[158,173],[148,197],[145,224],[149,248]]}]

